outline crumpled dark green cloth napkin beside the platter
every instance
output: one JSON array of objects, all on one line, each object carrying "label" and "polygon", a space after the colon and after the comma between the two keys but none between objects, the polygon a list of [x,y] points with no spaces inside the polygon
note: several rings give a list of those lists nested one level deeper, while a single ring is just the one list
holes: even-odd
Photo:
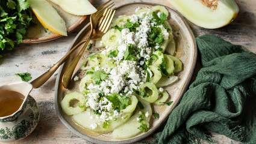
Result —
[{"label": "crumpled dark green cloth napkin beside the platter", "polygon": [[214,35],[196,38],[202,68],[155,143],[214,143],[210,133],[256,143],[256,55]]}]

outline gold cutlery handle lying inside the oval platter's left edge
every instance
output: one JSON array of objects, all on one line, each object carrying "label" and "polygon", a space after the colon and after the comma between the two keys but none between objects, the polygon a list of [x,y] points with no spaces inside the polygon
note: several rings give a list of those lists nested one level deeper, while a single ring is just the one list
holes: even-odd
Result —
[{"label": "gold cutlery handle lying inside the oval platter's left edge", "polygon": [[69,86],[69,82],[72,79],[73,71],[75,71],[76,65],[80,61],[80,58],[83,56],[84,51],[86,50],[86,47],[92,38],[92,34],[93,34],[93,31],[90,32],[90,35],[87,38],[86,43],[84,44],[83,48],[80,50],[78,55],[72,60],[72,62],[69,64],[68,69],[63,74],[62,84],[63,84],[64,88],[67,88]]}]

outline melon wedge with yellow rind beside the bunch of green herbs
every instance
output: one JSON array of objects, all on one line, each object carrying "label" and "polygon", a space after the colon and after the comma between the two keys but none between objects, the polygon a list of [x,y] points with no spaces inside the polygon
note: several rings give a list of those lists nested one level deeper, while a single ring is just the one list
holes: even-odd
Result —
[{"label": "melon wedge with yellow rind beside the bunch of green herbs", "polygon": [[45,29],[58,35],[67,35],[66,24],[46,0],[28,0],[30,7]]}]

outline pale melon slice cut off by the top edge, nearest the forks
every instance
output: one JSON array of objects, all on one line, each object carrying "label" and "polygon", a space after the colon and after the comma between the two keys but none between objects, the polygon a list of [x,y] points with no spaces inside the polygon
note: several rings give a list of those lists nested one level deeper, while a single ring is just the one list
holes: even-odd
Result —
[{"label": "pale melon slice cut off by the top edge, nearest the forks", "polygon": [[76,16],[84,16],[95,13],[97,10],[88,0],[50,0],[59,5],[64,11]]}]

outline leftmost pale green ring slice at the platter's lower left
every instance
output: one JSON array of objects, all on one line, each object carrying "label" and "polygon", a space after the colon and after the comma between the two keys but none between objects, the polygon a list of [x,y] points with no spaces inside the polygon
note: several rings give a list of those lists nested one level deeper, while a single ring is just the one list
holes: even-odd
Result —
[{"label": "leftmost pale green ring slice at the platter's lower left", "polygon": [[[73,100],[78,100],[79,102],[75,106],[70,106],[70,103]],[[65,95],[60,105],[64,113],[66,113],[67,115],[76,115],[78,113],[84,112],[84,110],[86,109],[86,107],[84,106],[85,102],[86,98],[83,94],[80,94],[78,92],[72,92]]]}]

